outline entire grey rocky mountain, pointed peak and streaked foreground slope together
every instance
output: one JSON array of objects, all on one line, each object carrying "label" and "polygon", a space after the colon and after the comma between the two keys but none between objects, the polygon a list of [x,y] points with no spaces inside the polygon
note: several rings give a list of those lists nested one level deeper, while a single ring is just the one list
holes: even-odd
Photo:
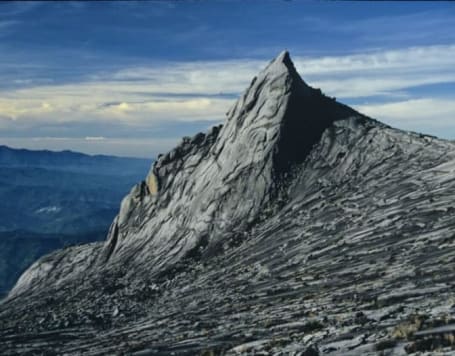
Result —
[{"label": "entire grey rocky mountain, pointed peak and streaked foreground slope together", "polygon": [[4,355],[451,354],[455,143],[311,88],[281,53],[183,138],[105,242],[34,263]]}]

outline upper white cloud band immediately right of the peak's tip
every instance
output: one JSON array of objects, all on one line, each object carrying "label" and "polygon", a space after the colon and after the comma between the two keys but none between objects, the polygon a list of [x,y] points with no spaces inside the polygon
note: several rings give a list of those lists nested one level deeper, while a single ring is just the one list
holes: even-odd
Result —
[{"label": "upper white cloud band immediately right of the peak's tip", "polygon": [[296,66],[310,83],[330,95],[341,98],[393,95],[412,87],[455,82],[455,45],[298,58]]}]

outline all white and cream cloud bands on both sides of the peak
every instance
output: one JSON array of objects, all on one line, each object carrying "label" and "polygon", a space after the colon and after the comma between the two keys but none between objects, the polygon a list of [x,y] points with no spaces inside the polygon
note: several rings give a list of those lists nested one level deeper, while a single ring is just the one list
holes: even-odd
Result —
[{"label": "all white and cream cloud bands on both sides of the peak", "polygon": [[[448,125],[454,118],[451,101],[438,99],[431,92],[426,99],[415,98],[408,89],[455,83],[455,45],[293,60],[310,85],[338,99],[407,98],[400,103],[357,106],[389,123],[400,126],[408,120],[405,126],[409,129],[428,131]],[[0,129],[69,122],[118,123],[137,129],[163,123],[221,121],[234,99],[220,94],[239,95],[266,64],[264,60],[155,63],[99,73],[79,83],[3,89]],[[81,137],[103,134],[87,131]]]}]

